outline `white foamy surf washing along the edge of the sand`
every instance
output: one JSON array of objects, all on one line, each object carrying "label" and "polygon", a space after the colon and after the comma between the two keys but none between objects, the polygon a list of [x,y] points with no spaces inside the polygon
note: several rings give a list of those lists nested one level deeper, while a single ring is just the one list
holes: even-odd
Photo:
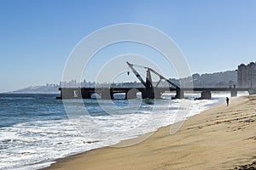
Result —
[{"label": "white foamy surf washing along the edge of the sand", "polygon": [[[189,101],[190,107],[181,105],[184,101]],[[108,101],[104,102],[108,105]],[[224,99],[156,100],[154,105],[143,105],[140,110],[128,114],[121,110],[108,116],[79,115],[71,120],[24,122],[2,127],[0,169],[47,167],[57,158],[154,132],[159,127],[186,119],[220,102]]]}]

